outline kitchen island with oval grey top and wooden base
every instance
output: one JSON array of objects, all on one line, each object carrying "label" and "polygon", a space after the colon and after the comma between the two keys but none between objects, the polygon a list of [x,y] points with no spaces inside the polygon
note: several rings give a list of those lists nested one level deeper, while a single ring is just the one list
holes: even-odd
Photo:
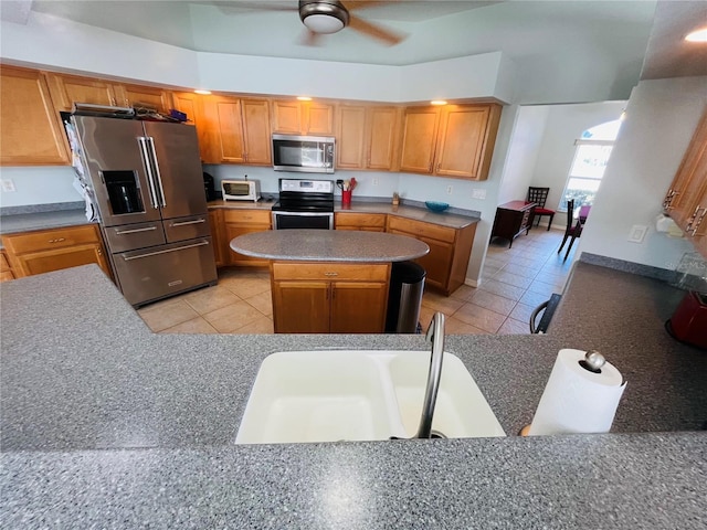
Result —
[{"label": "kitchen island with oval grey top and wooden base", "polygon": [[231,250],[270,259],[276,333],[381,333],[391,263],[430,247],[404,235],[275,230],[241,235]]}]

